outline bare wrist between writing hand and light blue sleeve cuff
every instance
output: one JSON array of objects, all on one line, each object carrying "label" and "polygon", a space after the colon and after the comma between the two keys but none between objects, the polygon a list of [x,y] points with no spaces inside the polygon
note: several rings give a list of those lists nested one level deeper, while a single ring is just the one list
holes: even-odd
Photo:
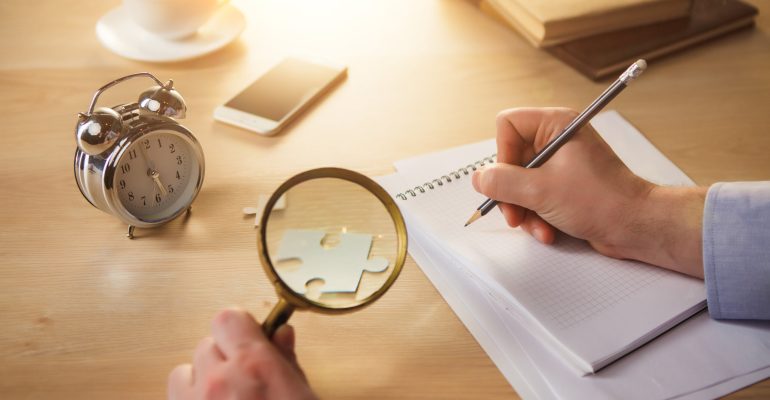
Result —
[{"label": "bare wrist between writing hand and light blue sleeve cuff", "polygon": [[653,186],[640,201],[628,235],[632,258],[703,278],[706,188]]}]

